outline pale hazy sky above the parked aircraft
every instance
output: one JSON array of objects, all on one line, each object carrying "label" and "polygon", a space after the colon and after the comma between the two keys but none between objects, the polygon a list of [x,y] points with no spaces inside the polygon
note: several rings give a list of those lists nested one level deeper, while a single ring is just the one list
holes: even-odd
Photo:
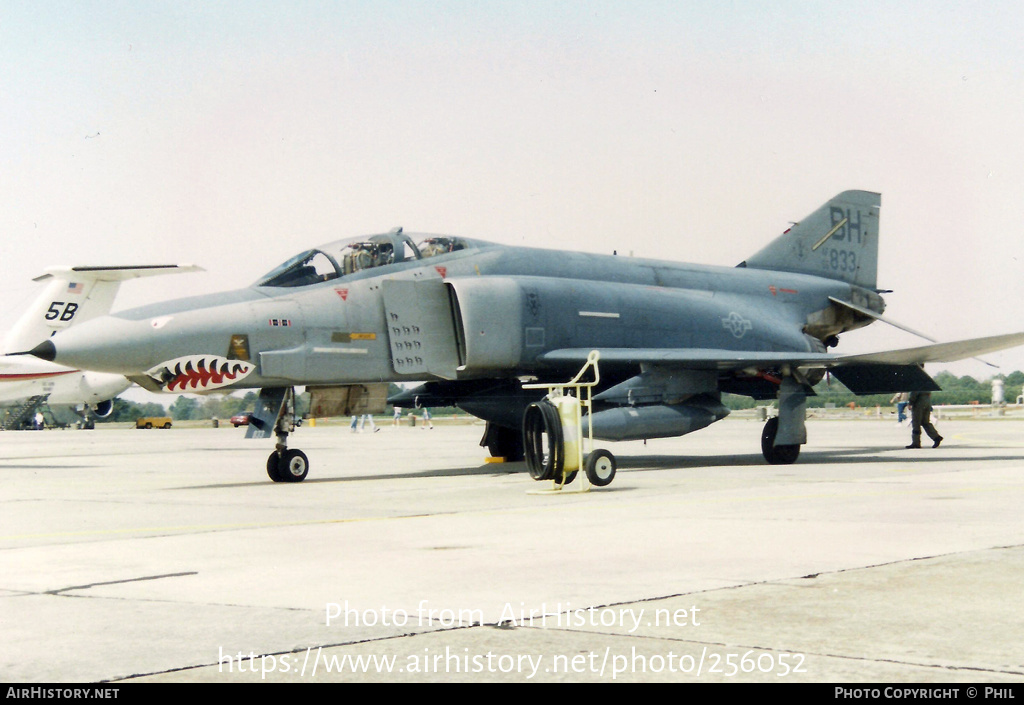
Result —
[{"label": "pale hazy sky above the parked aircraft", "polygon": [[[1022,36],[984,0],[0,0],[0,330],[49,265],[206,269],[130,307],[398,225],[731,266],[860,189],[888,316],[1022,331]],[[986,359],[928,369],[1024,370]]]}]

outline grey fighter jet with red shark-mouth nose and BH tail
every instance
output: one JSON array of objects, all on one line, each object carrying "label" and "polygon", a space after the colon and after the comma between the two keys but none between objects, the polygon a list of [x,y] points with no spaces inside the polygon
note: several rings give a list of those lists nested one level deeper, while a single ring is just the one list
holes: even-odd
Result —
[{"label": "grey fighter jet with red shark-mouth nose and BH tail", "polygon": [[878,194],[842,193],[734,267],[399,227],[302,252],[247,289],[94,319],[33,354],[172,393],[259,387],[249,436],[275,434],[267,471],[276,482],[308,470],[287,446],[296,386],[321,416],[379,413],[389,382],[423,382],[391,401],[457,405],[487,422],[481,445],[521,458],[530,433],[544,433],[524,423],[544,391],[523,381],[559,383],[592,350],[595,439],[703,428],[729,413],[725,391],[778,400],[762,450],[769,463],[792,463],[807,442],[806,398],[826,371],[858,395],[934,390],[924,363],[1024,344],[1017,333],[828,352],[841,333],[887,321],[876,282],[880,204]]}]

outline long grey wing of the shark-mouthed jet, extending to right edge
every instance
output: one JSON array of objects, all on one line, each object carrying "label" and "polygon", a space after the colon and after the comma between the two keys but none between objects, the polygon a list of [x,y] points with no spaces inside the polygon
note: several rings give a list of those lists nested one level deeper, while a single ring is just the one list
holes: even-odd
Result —
[{"label": "long grey wing of the shark-mouthed jet, extending to right edge", "polygon": [[[925,363],[951,363],[1024,345],[1024,333],[994,335],[986,338],[972,338],[956,342],[935,343],[897,350],[867,352],[858,355],[836,355],[831,352],[757,352],[744,350],[724,350],[702,347],[684,348],[599,348],[601,365],[666,365],[695,370],[742,370],[745,368],[770,368],[790,365],[798,368],[833,369],[844,366],[865,365],[923,365]],[[587,348],[564,348],[541,356],[550,363],[587,362]]]}]

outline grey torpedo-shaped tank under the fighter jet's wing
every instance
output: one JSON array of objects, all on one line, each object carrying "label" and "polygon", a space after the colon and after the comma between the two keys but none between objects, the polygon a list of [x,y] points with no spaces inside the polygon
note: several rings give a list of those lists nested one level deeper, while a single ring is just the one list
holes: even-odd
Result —
[{"label": "grey torpedo-shaped tank under the fighter jet's wing", "polygon": [[[591,416],[594,438],[601,441],[642,441],[684,436],[729,415],[721,404],[708,400],[674,406],[618,407]],[[587,423],[584,422],[584,432]]]}]

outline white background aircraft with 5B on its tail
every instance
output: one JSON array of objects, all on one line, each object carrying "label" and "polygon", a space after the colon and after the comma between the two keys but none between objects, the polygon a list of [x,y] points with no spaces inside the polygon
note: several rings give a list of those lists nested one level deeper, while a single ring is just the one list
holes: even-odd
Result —
[{"label": "white background aircraft with 5B on its tail", "polygon": [[[201,271],[190,265],[54,266],[36,282],[47,282],[35,302],[10,330],[7,352],[29,349],[65,330],[111,310],[121,283],[169,273]],[[113,400],[131,386],[124,375],[83,372],[36,358],[0,358],[0,406],[4,427],[18,427],[43,404],[76,407],[85,421],[110,415]]]}]

